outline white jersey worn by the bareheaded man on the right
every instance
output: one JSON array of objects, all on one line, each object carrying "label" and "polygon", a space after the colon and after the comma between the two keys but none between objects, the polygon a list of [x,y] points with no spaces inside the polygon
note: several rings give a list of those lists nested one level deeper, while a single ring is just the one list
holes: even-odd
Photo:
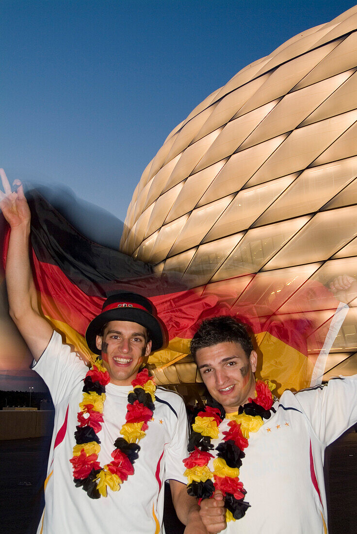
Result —
[{"label": "white jersey worn by the bareheaded man on the right", "polygon": [[[250,433],[239,478],[251,507],[242,519],[227,523],[225,534],[327,532],[324,450],[357,421],[356,400],[357,375],[283,393],[271,418]],[[215,447],[228,422],[212,439]]]}]

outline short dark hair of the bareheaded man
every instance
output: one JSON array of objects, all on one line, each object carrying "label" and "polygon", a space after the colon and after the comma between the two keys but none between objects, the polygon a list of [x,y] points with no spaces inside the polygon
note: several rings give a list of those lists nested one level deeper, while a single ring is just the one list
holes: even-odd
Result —
[{"label": "short dark hair of the bareheaded man", "polygon": [[191,341],[191,355],[196,361],[197,350],[226,341],[239,343],[247,357],[250,357],[253,344],[247,327],[233,317],[225,315],[202,321]]}]

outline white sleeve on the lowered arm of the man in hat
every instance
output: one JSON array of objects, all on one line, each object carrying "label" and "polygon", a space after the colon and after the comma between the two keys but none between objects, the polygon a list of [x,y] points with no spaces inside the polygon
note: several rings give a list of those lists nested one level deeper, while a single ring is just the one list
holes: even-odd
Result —
[{"label": "white sleeve on the lowered arm of the man in hat", "polygon": [[188,456],[188,422],[185,404],[181,398],[179,403],[177,426],[165,453],[165,480],[177,480],[186,484],[183,460]]}]

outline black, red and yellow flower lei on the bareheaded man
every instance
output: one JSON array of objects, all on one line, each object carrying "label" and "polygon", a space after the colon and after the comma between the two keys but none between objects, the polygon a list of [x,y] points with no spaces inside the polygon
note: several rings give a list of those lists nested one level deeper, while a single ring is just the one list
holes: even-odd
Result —
[{"label": "black, red and yellow flower lei on the bareheaded man", "polygon": [[256,397],[249,398],[248,403],[239,407],[238,413],[228,414],[229,430],[224,432],[223,442],[216,447],[217,458],[213,460],[213,472],[208,463],[213,455],[211,439],[218,438],[219,425],[225,418],[223,407],[206,406],[197,414],[192,425],[188,441],[188,458],[185,458],[185,476],[187,476],[187,493],[199,499],[208,499],[216,490],[225,497],[226,522],[241,519],[249,508],[244,501],[247,493],[239,480],[239,468],[244,458],[244,449],[248,447],[249,432],[257,432],[264,419],[271,416],[270,409],[274,402],[269,381],[256,380]]}]

